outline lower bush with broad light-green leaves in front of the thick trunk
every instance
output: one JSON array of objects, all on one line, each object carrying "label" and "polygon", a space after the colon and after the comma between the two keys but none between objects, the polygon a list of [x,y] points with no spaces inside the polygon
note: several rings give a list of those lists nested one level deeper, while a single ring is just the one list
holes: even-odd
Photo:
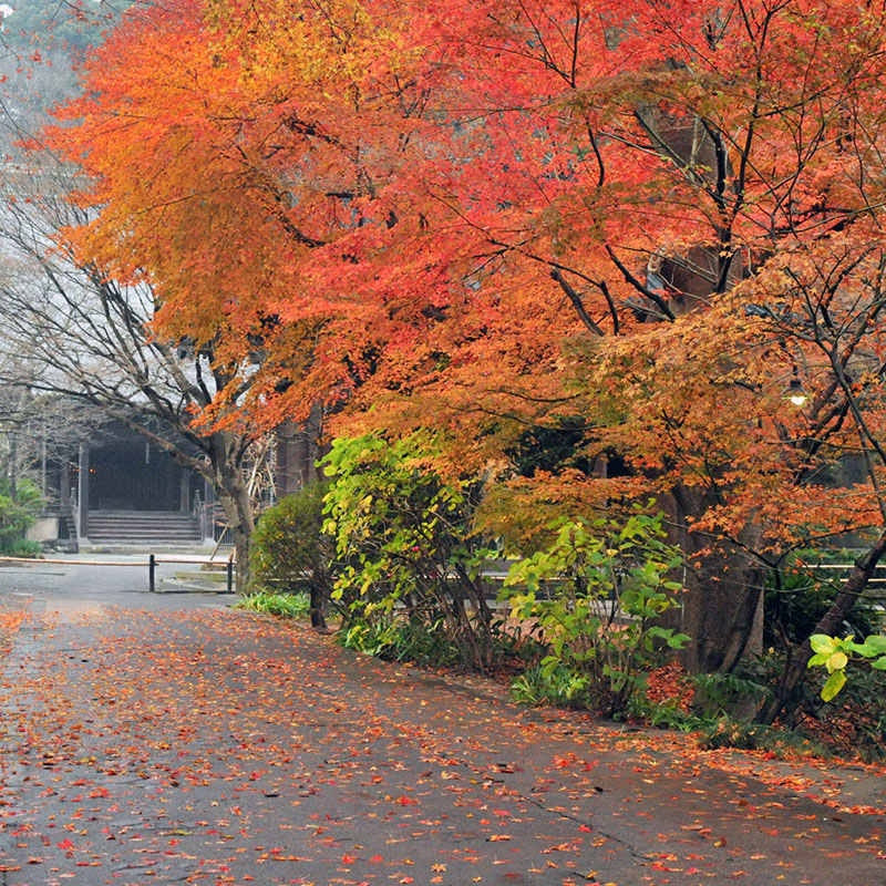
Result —
[{"label": "lower bush with broad light-green leaves in front of the thick trunk", "polygon": [[[624,525],[564,519],[544,550],[512,567],[502,596],[512,615],[536,625],[547,647],[538,674],[552,698],[566,697],[608,713],[626,713],[645,691],[645,672],[680,649],[684,633],[657,624],[676,606],[680,565],[664,542],[661,517],[638,508]],[[528,692],[527,680],[517,692]]]}]

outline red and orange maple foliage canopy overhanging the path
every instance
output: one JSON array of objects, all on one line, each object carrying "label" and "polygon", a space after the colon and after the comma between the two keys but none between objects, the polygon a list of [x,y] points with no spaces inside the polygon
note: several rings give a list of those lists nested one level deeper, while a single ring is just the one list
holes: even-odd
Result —
[{"label": "red and orange maple foliage canopy overhanging the path", "polygon": [[883,43],[825,0],[140,9],[49,133],[65,236],[255,374],[208,420],[322,398],[503,476],[569,429],[518,533],[674,488],[754,549],[879,526]]}]

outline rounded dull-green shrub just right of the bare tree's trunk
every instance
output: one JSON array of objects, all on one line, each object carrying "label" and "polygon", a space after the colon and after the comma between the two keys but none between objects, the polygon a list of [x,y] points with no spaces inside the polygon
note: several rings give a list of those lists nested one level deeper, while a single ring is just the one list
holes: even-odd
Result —
[{"label": "rounded dull-green shrub just right of the bare tree's trunk", "polygon": [[324,483],[310,483],[281,498],[261,515],[253,536],[253,589],[307,591],[316,628],[326,627],[337,568],[333,542],[322,533],[327,490]]}]

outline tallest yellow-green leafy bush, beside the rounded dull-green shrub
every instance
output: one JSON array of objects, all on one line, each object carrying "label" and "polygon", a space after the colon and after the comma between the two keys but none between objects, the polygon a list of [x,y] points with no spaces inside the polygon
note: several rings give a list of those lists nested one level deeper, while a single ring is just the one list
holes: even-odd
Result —
[{"label": "tallest yellow-green leafy bush, beside the rounded dull-green shrub", "polygon": [[482,575],[494,552],[472,533],[478,490],[471,478],[441,477],[433,454],[423,434],[334,441],[324,460],[332,480],[324,528],[346,564],[334,596],[350,612],[346,633],[359,625],[374,637],[402,618],[410,631],[442,635],[466,666],[488,670],[499,647]]}]

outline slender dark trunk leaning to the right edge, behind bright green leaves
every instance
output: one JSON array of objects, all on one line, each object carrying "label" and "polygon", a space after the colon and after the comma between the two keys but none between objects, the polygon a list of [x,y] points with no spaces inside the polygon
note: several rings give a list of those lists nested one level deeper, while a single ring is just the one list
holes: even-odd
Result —
[{"label": "slender dark trunk leaning to the right edge, behind bright green leaves", "polygon": [[[843,622],[852,612],[858,597],[864,591],[870,576],[874,575],[874,570],[877,568],[877,564],[885,554],[886,533],[880,535],[877,543],[855,562],[855,566],[843,585],[843,589],[813,629],[813,635],[826,633],[833,636],[843,630]],[[808,638],[790,650],[787,664],[782,672],[775,692],[769,701],[764,702],[758,713],[756,720],[759,722],[773,723],[785,707],[796,698],[812,656],[813,651]]]}]

